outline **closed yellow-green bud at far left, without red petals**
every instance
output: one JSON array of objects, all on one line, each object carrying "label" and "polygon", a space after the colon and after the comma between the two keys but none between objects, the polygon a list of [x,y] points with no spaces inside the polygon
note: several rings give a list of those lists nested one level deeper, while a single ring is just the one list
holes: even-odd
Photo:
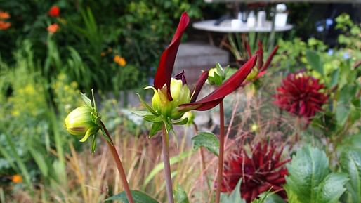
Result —
[{"label": "closed yellow-green bud at far left, without red petals", "polygon": [[65,128],[74,136],[83,136],[80,141],[85,142],[100,129],[100,126],[93,122],[92,114],[96,114],[95,110],[87,105],[77,107],[65,118]]}]

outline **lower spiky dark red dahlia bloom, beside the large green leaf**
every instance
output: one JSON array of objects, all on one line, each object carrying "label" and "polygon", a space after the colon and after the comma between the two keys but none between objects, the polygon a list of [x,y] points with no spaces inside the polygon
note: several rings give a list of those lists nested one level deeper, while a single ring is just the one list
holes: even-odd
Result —
[{"label": "lower spiky dark red dahlia bloom, beside the large green leaf", "polygon": [[251,157],[244,150],[239,150],[225,160],[223,169],[222,192],[231,192],[242,178],[241,196],[247,203],[258,197],[262,192],[271,190],[286,198],[282,185],[286,183],[284,166],[290,159],[281,160],[282,150],[275,145],[258,143],[251,148]]}]

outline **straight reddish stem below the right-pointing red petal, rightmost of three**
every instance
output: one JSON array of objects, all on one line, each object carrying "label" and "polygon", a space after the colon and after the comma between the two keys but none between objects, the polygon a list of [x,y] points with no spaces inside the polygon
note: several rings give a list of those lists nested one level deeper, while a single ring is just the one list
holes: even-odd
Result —
[{"label": "straight reddish stem below the right-pointing red petal, rightmost of three", "polygon": [[224,154],[224,110],[223,101],[219,104],[219,155],[218,155],[218,174],[217,174],[217,189],[216,189],[216,203],[221,199],[221,184],[223,174],[223,154]]}]

